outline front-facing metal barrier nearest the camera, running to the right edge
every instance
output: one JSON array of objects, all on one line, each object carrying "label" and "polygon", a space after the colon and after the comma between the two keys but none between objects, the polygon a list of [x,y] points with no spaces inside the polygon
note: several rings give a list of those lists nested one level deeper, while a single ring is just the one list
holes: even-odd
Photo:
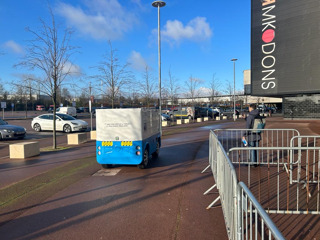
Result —
[{"label": "front-facing metal barrier nearest the camera, running to the right edge", "polygon": [[[290,186],[291,172],[281,171],[282,167],[280,166],[283,164],[283,162],[281,162],[282,151],[320,152],[320,147],[248,147],[247,149],[258,152],[258,168],[251,170],[251,168],[248,167],[248,170],[242,171],[246,168],[241,169],[239,165],[238,180],[244,180],[248,184],[250,190],[255,193],[258,201],[264,206],[268,213],[320,214],[318,211],[319,197],[310,201],[310,191],[308,187],[306,188],[306,193],[299,194],[299,184],[297,184],[296,188]],[[229,149],[228,156],[231,155],[232,151],[238,152],[239,150],[241,150],[241,148]],[[268,168],[260,167],[263,166],[260,162],[261,154],[266,155],[265,158],[267,159],[266,164],[268,164]],[[271,156],[274,156],[273,164],[276,165],[271,165]],[[306,156],[309,158],[310,154]],[[308,162],[308,159],[306,161]],[[320,162],[319,156],[318,162]],[[289,165],[289,158],[287,164]],[[243,175],[245,175],[245,178]],[[308,182],[306,184],[309,186]],[[317,189],[317,194],[319,196],[319,188]],[[296,199],[296,201],[293,199]]]}]

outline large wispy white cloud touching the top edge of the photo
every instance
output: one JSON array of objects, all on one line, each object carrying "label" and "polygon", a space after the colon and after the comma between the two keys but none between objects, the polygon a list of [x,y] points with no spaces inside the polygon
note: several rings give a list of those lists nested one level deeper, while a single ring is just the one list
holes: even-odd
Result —
[{"label": "large wispy white cloud touching the top edge of the photo", "polygon": [[128,12],[117,0],[86,1],[88,8],[60,2],[56,11],[67,19],[69,25],[94,39],[118,39],[137,23],[135,15]]}]

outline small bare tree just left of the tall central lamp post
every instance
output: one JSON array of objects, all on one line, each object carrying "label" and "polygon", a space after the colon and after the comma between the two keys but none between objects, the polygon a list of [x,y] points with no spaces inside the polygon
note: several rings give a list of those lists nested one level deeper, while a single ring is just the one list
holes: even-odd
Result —
[{"label": "small bare tree just left of the tall central lamp post", "polygon": [[148,66],[146,66],[144,73],[142,73],[142,81],[138,82],[140,97],[147,102],[148,108],[150,101],[156,97],[156,79],[150,74]]}]

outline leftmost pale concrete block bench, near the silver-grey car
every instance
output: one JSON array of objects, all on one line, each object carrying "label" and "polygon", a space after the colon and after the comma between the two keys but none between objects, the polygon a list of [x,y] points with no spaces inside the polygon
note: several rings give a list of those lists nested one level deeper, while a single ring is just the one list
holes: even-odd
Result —
[{"label": "leftmost pale concrete block bench, near the silver-grey car", "polygon": [[9,145],[10,158],[27,158],[40,154],[39,142],[20,142]]}]

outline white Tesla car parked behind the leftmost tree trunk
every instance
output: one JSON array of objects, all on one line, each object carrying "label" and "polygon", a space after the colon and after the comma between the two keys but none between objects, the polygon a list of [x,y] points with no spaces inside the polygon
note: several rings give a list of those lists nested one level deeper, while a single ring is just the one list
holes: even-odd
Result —
[{"label": "white Tesla car parked behind the leftmost tree trunk", "polygon": [[[53,131],[53,114],[44,114],[32,119],[31,127],[40,132],[41,130]],[[88,123],[77,120],[73,116],[63,113],[56,114],[56,130],[70,133],[73,131],[84,131],[88,129]]]}]

